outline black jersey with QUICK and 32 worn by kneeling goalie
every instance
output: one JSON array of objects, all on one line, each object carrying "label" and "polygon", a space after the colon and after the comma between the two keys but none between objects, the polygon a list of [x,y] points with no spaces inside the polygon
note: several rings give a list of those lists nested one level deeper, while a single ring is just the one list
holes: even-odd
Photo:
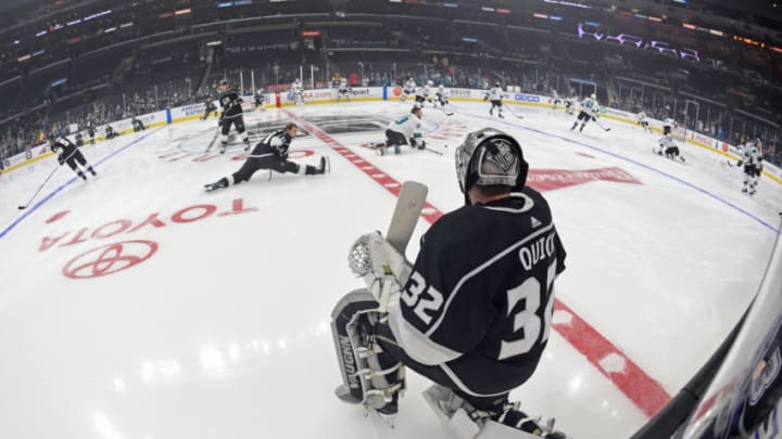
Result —
[{"label": "black jersey with QUICK and 32 worn by kneeling goalie", "polygon": [[450,212],[421,237],[390,310],[394,337],[468,395],[506,392],[532,375],[547,344],[565,255],[548,205],[531,188]]}]

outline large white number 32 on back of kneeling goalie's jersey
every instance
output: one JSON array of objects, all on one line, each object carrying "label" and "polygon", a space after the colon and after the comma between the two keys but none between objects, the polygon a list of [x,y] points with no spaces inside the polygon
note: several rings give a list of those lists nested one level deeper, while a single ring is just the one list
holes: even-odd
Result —
[{"label": "large white number 32 on back of kneeling goalie's jersey", "polygon": [[[541,285],[540,281],[534,276],[527,279],[521,285],[508,289],[508,317],[510,317],[510,312],[513,312],[519,301],[525,301],[525,308],[513,317],[514,334],[517,334],[521,330],[524,330],[524,334],[520,338],[512,341],[502,340],[500,360],[529,352],[538,343],[539,337],[540,343],[548,339],[552,313],[554,312],[554,295],[548,293],[552,290],[555,276],[556,260],[548,266],[547,285],[545,285],[545,289],[543,289],[543,285]],[[543,322],[541,322],[541,319],[538,317],[538,310],[541,306],[541,297],[545,296],[548,296],[548,302],[543,311]],[[542,337],[541,328],[544,328]]]}]

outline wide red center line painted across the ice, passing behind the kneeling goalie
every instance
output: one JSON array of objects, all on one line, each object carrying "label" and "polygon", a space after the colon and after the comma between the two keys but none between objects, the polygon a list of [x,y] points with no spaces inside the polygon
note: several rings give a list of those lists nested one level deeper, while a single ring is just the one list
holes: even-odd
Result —
[{"label": "wide red center line painted across the ice, passing behind the kneeling goalie", "polygon": [[[375,180],[375,182],[383,186],[394,196],[399,196],[402,184],[393,177],[361,158],[358,154],[342,145],[305,119],[286,109],[282,109],[282,112],[353,164],[358,170]],[[434,223],[442,215],[442,211],[431,204],[426,203],[424,205],[421,217],[430,224]],[[598,333],[597,330],[586,323],[585,320],[576,314],[569,307],[563,304],[562,300],[555,299],[554,310],[555,317],[554,323],[552,324],[554,330],[572,345],[576,350],[586,357],[589,362],[610,379],[646,416],[654,416],[671,399],[670,395],[668,395],[659,382],[646,374],[646,372],[630,360],[621,349],[610,343]]]}]

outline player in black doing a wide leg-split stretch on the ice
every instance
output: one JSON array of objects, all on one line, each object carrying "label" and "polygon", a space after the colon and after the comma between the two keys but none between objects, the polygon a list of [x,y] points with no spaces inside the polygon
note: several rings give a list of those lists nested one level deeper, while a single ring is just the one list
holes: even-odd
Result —
[{"label": "player in black doing a wide leg-split stretch on the ice", "polygon": [[242,167],[230,177],[223,177],[214,183],[204,185],[206,192],[228,188],[231,184],[239,184],[242,181],[250,181],[258,169],[272,169],[277,172],[294,172],[307,176],[326,173],[328,169],[328,157],[320,157],[320,166],[299,165],[288,159],[290,143],[299,133],[295,124],[288,124],[285,129],[277,130],[264,138],[253,149]]}]

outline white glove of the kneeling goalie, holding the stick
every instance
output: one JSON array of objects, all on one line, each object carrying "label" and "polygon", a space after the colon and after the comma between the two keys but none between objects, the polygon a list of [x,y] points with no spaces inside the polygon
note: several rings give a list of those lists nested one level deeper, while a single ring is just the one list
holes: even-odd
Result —
[{"label": "white glove of the kneeling goalie, holding the stick", "polygon": [[380,304],[378,310],[388,312],[389,301],[399,298],[411,274],[409,263],[383,238],[380,232],[360,236],[348,255],[351,270],[364,277],[367,289]]}]

